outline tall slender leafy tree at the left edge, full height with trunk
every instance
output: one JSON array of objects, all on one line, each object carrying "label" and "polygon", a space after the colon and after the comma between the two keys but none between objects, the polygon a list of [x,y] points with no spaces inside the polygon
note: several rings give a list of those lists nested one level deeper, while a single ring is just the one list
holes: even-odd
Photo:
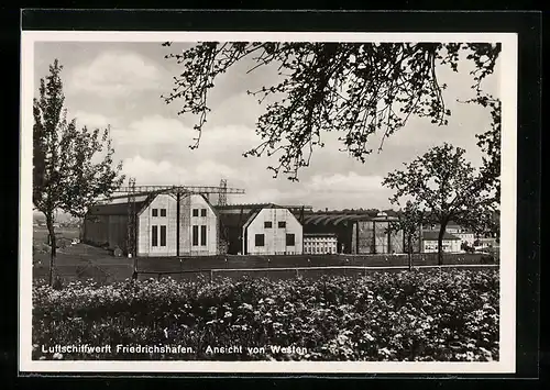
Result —
[{"label": "tall slender leafy tree at the left edge, full height with trunk", "polygon": [[[122,164],[112,168],[109,129],[100,134],[99,129],[79,130],[75,119],[67,120],[62,69],[55,59],[50,75],[41,79],[33,103],[33,203],[46,218],[51,285],[56,257],[55,211],[82,218],[98,197],[111,194],[124,180]],[[94,163],[95,158],[99,161]]]}]

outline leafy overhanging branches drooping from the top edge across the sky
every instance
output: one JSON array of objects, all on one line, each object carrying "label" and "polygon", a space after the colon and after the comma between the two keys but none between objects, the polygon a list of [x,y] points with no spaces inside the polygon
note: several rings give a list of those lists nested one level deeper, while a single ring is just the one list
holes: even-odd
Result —
[{"label": "leafy overhanging branches drooping from the top edge across the sky", "polygon": [[[278,166],[268,169],[275,177],[283,171],[298,180],[298,170],[309,165],[314,149],[323,147],[323,132],[342,132],[342,151],[364,163],[373,152],[371,136],[381,133],[381,151],[384,140],[410,115],[447,124],[451,115],[442,96],[447,86],[438,81],[436,68],[458,71],[460,54],[474,64],[476,94],[471,102],[496,104],[481,83],[493,73],[499,53],[501,44],[490,43],[206,42],[165,56],[180,64],[183,73],[174,77],[170,93],[161,98],[167,104],[180,102],[179,114],[198,115],[198,135],[190,146],[196,148],[217,77],[243,60],[254,64],[249,73],[275,66],[277,81],[249,91],[258,103],[272,102],[257,121],[260,145],[244,156],[278,154]],[[480,140],[490,156],[499,153],[496,137],[499,134],[487,132]]]}]

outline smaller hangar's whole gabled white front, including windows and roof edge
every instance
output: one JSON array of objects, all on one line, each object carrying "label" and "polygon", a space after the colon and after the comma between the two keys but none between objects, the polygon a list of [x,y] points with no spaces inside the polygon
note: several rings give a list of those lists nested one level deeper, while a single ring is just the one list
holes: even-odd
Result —
[{"label": "smaller hangar's whole gabled white front, including windows and roof edge", "polygon": [[288,209],[273,205],[253,213],[243,226],[243,254],[302,254],[302,227]]}]

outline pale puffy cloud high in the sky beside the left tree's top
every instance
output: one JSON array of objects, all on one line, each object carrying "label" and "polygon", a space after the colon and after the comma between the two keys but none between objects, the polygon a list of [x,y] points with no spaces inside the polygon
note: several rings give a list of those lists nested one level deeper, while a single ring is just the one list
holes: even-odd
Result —
[{"label": "pale puffy cloud high in the sky beside the left tree's top", "polygon": [[76,67],[68,87],[107,98],[155,90],[161,80],[162,71],[153,62],[132,52],[111,51]]}]

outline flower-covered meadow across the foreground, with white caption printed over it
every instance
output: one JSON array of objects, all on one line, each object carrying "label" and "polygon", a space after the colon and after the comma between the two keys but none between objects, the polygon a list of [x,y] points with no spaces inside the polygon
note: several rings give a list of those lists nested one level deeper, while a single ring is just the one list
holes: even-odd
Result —
[{"label": "flower-covered meadow across the foreground, with white caption printed over it", "polygon": [[498,269],[35,282],[33,358],[490,361],[498,322]]}]

